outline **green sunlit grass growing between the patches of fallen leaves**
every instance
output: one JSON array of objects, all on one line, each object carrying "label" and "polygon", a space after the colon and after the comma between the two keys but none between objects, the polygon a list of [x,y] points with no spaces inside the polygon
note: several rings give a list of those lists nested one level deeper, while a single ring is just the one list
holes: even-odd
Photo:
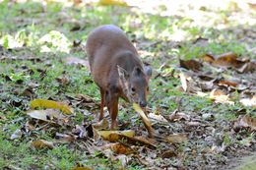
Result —
[{"label": "green sunlit grass growing between the patches of fallen leaves", "polygon": [[[67,56],[85,58],[83,50],[74,50],[74,40],[86,41],[88,33],[98,25],[114,24],[128,32],[130,38],[139,40],[166,42],[176,37],[175,33],[181,32],[187,36],[181,38],[181,47],[166,48],[164,43],[156,48],[147,48],[154,54],[154,59],[145,57],[153,67],[160,72],[162,64],[161,50],[167,55],[191,59],[200,57],[205,52],[222,54],[233,51],[240,56],[248,55],[247,42],[237,41],[232,32],[224,33],[225,30],[207,27],[190,27],[193,20],[190,18],[177,19],[175,17],[160,17],[138,11],[131,12],[126,7],[65,7],[62,3],[49,2],[46,6],[41,3],[27,2],[12,4],[8,1],[0,3],[0,44],[4,47],[4,55],[18,56],[22,59],[1,60],[0,63],[0,169],[71,169],[77,163],[96,169],[118,169],[121,163],[118,160],[110,160],[102,156],[101,152],[90,154],[81,150],[76,143],[57,144],[53,149],[33,149],[31,142],[37,139],[54,141],[50,131],[32,131],[26,138],[10,140],[17,129],[23,129],[29,120],[26,111],[32,98],[52,98],[54,100],[66,100],[66,96],[87,94],[99,101],[99,92],[92,82],[89,70],[83,67],[69,66],[62,62]],[[117,15],[118,14],[118,15]],[[220,14],[225,18],[225,13]],[[79,30],[71,31],[79,26]],[[139,28],[132,27],[138,26]],[[51,30],[56,30],[52,34]],[[48,35],[47,42],[40,39]],[[209,39],[207,46],[197,46],[193,41],[198,37]],[[15,46],[14,46],[15,45]],[[251,44],[250,44],[251,45]],[[21,50],[14,47],[24,47]],[[49,52],[41,52],[46,46]],[[255,45],[254,45],[255,46]],[[9,49],[9,50],[8,50]],[[142,49],[146,50],[145,47]],[[66,53],[71,51],[70,53]],[[0,51],[2,52],[2,51]],[[28,56],[35,59],[29,60]],[[167,61],[169,65],[177,64],[177,60]],[[174,68],[170,68],[174,69]],[[157,74],[157,73],[155,73]],[[60,85],[56,79],[66,76],[70,84]],[[32,96],[23,94],[31,84],[37,85],[33,89]],[[163,114],[169,114],[178,107],[178,103],[171,96],[183,98],[182,111],[202,112],[218,114],[218,119],[235,120],[235,111],[243,108],[241,105],[228,106],[224,104],[213,105],[207,98],[188,95],[178,89],[179,80],[166,78],[162,83],[160,78],[151,82],[150,107],[164,110]],[[83,109],[75,108],[76,115],[72,119],[74,124],[82,124],[84,120],[92,121],[94,116],[86,117]],[[253,110],[246,108],[246,113]],[[129,108],[120,111],[120,120],[129,121],[131,115]],[[224,141],[230,142],[228,136]],[[180,146],[180,149],[183,147]],[[185,148],[184,148],[185,149]],[[186,160],[188,161],[188,160]],[[189,162],[187,162],[189,164]],[[107,167],[107,168],[106,168]],[[137,162],[131,162],[127,169],[142,169]]]}]

